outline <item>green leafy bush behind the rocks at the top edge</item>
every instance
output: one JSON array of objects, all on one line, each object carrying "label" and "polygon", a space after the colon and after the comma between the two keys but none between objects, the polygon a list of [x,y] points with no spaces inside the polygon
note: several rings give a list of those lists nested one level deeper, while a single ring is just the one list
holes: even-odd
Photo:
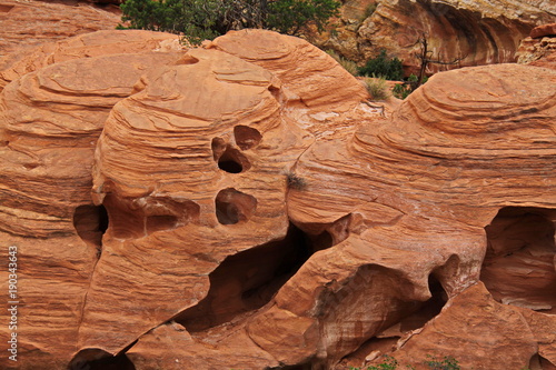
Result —
[{"label": "green leafy bush behind the rocks at the top edge", "polygon": [[244,28],[288,34],[308,24],[322,30],[339,7],[336,0],[127,0],[120,6],[129,28],[185,34],[193,40]]}]

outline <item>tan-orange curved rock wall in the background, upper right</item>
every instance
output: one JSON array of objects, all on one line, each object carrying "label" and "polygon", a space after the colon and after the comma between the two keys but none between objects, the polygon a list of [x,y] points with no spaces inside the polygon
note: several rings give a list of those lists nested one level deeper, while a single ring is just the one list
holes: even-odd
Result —
[{"label": "tan-orange curved rock wall in the background, upper right", "polygon": [[371,2],[376,10],[370,16],[365,12],[368,6],[363,6],[368,2],[359,2],[359,12],[346,9],[336,31],[320,41],[322,47],[361,63],[386,49],[403,60],[407,76],[419,71],[416,54],[423,36],[433,59],[461,59],[454,64],[430,63],[427,73],[436,73],[514,62],[519,42],[529,31],[556,20],[556,7],[550,2],[383,0]]}]

